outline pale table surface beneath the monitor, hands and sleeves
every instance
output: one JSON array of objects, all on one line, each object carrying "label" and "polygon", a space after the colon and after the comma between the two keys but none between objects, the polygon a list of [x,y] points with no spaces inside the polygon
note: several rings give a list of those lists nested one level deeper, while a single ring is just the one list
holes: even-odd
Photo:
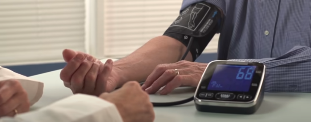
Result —
[{"label": "pale table surface beneath the monitor, hands and sleeves", "polygon": [[[105,62],[105,60],[102,60]],[[72,95],[59,78],[60,70],[31,76],[44,82],[42,98],[32,109],[49,105]],[[171,102],[191,97],[194,89],[178,88],[169,95],[150,95],[152,102]],[[310,93],[266,93],[259,110],[253,115],[198,112],[194,102],[172,107],[155,107],[155,122],[308,122],[311,121]]]}]

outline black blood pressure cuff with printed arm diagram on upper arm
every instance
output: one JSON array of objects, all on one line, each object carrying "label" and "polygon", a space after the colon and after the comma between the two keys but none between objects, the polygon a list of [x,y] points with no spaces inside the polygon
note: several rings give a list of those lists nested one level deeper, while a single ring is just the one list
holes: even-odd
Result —
[{"label": "black blood pressure cuff with printed arm diagram on upper arm", "polygon": [[186,47],[193,37],[190,52],[195,61],[221,28],[221,14],[215,5],[207,2],[194,3],[180,12],[163,35],[179,40]]}]

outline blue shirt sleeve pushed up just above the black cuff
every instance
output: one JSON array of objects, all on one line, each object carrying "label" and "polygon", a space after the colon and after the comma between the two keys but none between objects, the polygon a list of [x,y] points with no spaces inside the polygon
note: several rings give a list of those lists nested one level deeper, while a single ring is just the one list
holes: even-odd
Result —
[{"label": "blue shirt sleeve pushed up just above the black cuff", "polygon": [[226,15],[226,2],[225,2],[225,0],[183,0],[180,11],[187,8],[188,6],[190,6],[193,3],[198,3],[198,2],[203,2],[203,1],[211,3],[211,4],[219,7],[224,12],[224,15]]}]

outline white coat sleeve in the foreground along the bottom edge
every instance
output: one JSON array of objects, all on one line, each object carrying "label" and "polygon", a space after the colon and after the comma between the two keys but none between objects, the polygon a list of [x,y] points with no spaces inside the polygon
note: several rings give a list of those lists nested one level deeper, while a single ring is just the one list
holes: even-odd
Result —
[{"label": "white coat sleeve in the foreground along the bottom edge", "polygon": [[76,94],[36,111],[0,122],[123,122],[116,106],[95,96]]}]

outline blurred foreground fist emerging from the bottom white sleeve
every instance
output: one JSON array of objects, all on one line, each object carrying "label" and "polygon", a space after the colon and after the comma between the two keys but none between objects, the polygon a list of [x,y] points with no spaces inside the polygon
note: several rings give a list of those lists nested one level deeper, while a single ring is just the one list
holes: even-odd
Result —
[{"label": "blurred foreground fist emerging from the bottom white sleeve", "polygon": [[101,94],[100,98],[114,103],[124,122],[154,121],[155,114],[149,96],[138,82],[127,82],[112,93]]}]

